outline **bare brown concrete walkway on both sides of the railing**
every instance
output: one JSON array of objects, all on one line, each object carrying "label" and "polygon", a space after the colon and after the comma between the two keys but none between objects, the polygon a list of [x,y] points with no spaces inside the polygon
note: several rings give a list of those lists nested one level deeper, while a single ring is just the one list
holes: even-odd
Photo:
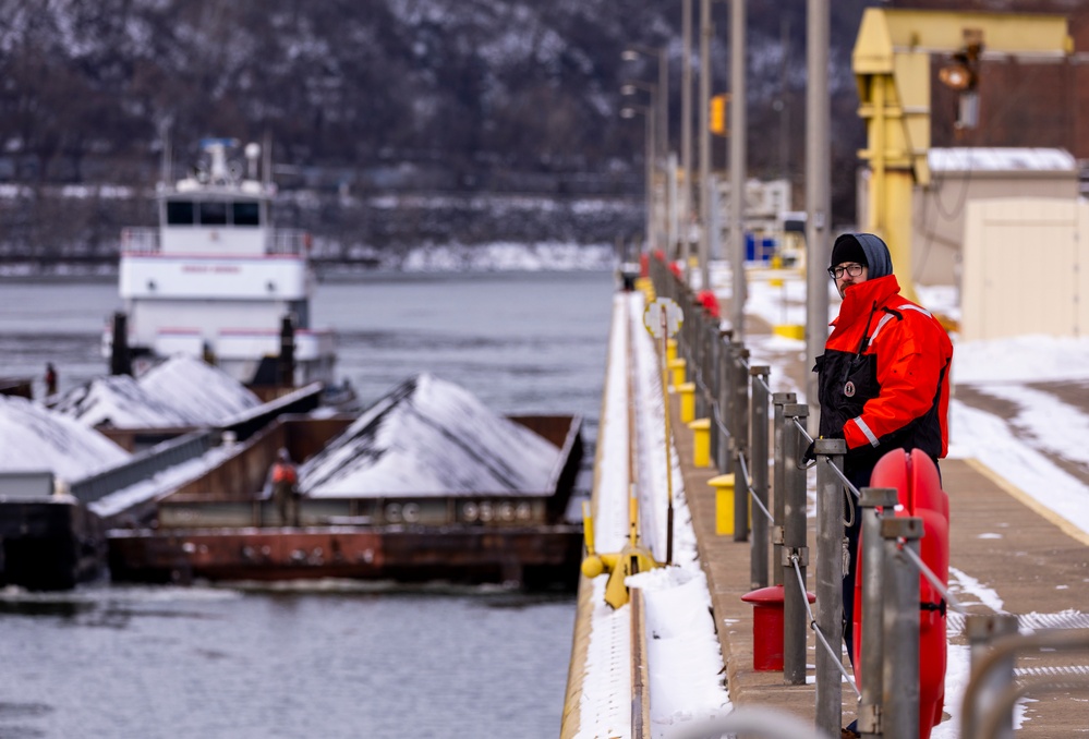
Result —
[{"label": "bare brown concrete walkway on both sides of the railing", "polygon": [[[752,316],[747,329],[750,336],[751,331],[760,334],[771,330]],[[794,387],[804,387],[807,371],[808,367],[803,367],[796,355],[792,366],[786,371]],[[774,377],[772,387],[776,387]],[[1080,399],[1089,403],[1089,397]],[[707,576],[730,700],[737,706],[775,707],[813,720],[813,685],[786,686],[779,673],[753,670],[752,608],[741,602],[741,596],[751,590],[749,544],[715,534],[715,497],[707,480],[718,471],[693,465],[692,433],[680,423],[679,411],[679,401],[675,397],[671,407],[675,444],[681,461],[699,554]],[[956,573],[963,572],[991,589],[1001,599],[1003,613],[1021,615],[1023,629],[1026,625],[1089,626],[1089,617],[1082,617],[1077,611],[1079,608],[1089,609],[1089,536],[973,460],[944,460],[942,474],[951,504],[951,581],[954,581],[954,594],[957,594]],[[813,552],[812,519],[810,524],[810,550]],[[808,585],[813,592],[815,580],[812,566]],[[963,601],[972,614],[994,613],[968,594]],[[951,650],[964,649],[967,640],[960,630],[963,619],[953,616],[949,621]],[[815,661],[813,642],[810,632],[810,654],[807,657],[810,679]],[[1085,676],[1089,675],[1089,654],[1026,657],[1020,658],[1017,666],[1038,674],[1056,668],[1064,674],[1081,670],[1081,679],[1086,679]],[[967,676],[964,676],[966,680]],[[846,725],[855,716],[857,699],[847,685],[844,685],[843,692]],[[959,701],[959,690],[953,694],[949,692],[947,701]],[[1030,691],[1029,695],[1034,701],[1027,704],[1025,720],[1017,736],[1052,738],[1089,732],[1089,691]],[[960,706],[952,707],[959,715]],[[946,707],[948,710],[949,706]],[[957,730],[949,732],[944,727],[942,731],[944,736],[958,734]]]}]

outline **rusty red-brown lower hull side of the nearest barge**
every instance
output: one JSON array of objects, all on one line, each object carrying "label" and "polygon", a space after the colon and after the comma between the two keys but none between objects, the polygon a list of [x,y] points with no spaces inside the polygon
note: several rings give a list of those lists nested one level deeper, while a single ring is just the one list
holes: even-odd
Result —
[{"label": "rusty red-brown lower hull side of the nearest barge", "polygon": [[306,526],[113,531],[114,581],[341,578],[573,590],[582,528]]}]

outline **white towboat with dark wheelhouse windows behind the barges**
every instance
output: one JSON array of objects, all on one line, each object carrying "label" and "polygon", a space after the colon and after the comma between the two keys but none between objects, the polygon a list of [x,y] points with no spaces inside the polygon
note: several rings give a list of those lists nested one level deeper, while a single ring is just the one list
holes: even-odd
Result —
[{"label": "white towboat with dark wheelhouse windows behind the barges", "polygon": [[[331,330],[311,327],[308,234],[274,229],[267,153],[232,140],[201,142],[193,175],[158,186],[158,228],[121,233],[125,312],[104,336],[112,372],[174,354],[202,356],[251,386],[332,381]],[[169,171],[169,167],[165,167]],[[114,334],[126,341],[114,347]]]}]

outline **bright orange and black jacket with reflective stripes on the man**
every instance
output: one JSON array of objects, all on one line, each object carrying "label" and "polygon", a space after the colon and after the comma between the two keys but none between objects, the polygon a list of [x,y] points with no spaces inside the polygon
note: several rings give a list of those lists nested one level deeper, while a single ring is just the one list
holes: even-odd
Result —
[{"label": "bright orange and black jacket with reflective stripes on the man", "polygon": [[948,451],[953,342],[929,311],[904,299],[895,275],[847,289],[816,360],[821,435],[849,452]]}]

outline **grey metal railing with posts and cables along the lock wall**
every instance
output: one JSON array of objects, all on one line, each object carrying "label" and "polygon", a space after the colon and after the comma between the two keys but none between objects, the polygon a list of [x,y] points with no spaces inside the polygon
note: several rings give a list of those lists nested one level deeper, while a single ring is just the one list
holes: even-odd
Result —
[{"label": "grey metal railing with posts and cables along the lock wall", "polygon": [[[972,643],[972,678],[961,707],[963,739],[1012,736],[1013,706],[1031,689],[1056,686],[1089,688],[1085,676],[1038,680],[1030,687],[1014,682],[1013,654],[1044,649],[1089,650],[1089,629],[1041,632],[1019,638],[1016,617],[968,616],[919,555],[923,520],[884,514],[893,511],[897,492],[866,487],[861,490],[843,471],[847,451],[843,439],[816,439],[806,431],[809,409],[792,392],[773,392],[766,366],[749,366],[748,350],[722,330],[697,301],[693,291],[661,259],[650,261],[650,277],[658,295],[674,300],[683,311],[677,338],[677,356],[686,361],[694,384],[697,417],[711,419],[711,458],[722,473],[734,472],[734,540],[750,544],[751,584],[767,585],[769,546],[776,585],[784,586],[783,677],[787,685],[806,682],[806,627],[816,637],[816,729],[838,736],[842,726],[843,681],[859,696],[858,727],[863,737],[915,739],[919,735],[920,577],[944,601],[942,608],[964,614]],[[773,409],[769,428],[769,407]],[[773,439],[771,452],[769,438]],[[799,460],[813,443],[816,473],[816,609],[810,608],[807,578],[807,469]],[[773,468],[769,510],[767,468]],[[844,490],[848,495],[844,494]],[[754,511],[748,530],[750,501]],[[846,506],[845,506],[846,501]],[[864,650],[857,655],[856,686],[844,667],[842,652],[843,545],[845,513],[861,517],[862,614]],[[937,625],[945,639],[944,610]],[[997,620],[995,620],[997,619]],[[1005,619],[1005,620],[1003,620]],[[991,646],[993,642],[993,647]],[[897,686],[884,690],[884,685]],[[910,688],[915,686],[916,688]],[[777,736],[766,729],[767,736]],[[689,735],[685,735],[689,736]],[[691,735],[699,736],[699,735]]]}]

